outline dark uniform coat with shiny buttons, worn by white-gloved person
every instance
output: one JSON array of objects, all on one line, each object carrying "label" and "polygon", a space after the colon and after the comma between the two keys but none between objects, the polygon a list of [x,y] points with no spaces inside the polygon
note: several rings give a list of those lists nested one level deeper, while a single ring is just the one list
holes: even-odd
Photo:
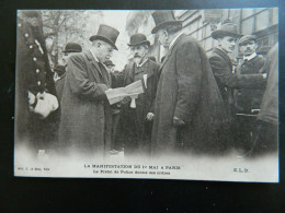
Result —
[{"label": "dark uniform coat with shiny buttons, worn by white-gloved person", "polygon": [[[41,22],[41,20],[39,20]],[[35,149],[49,149],[56,140],[55,122],[58,110],[47,118],[30,111],[27,92],[56,95],[53,71],[49,67],[43,31],[22,19],[18,22],[15,143],[27,142]]]}]

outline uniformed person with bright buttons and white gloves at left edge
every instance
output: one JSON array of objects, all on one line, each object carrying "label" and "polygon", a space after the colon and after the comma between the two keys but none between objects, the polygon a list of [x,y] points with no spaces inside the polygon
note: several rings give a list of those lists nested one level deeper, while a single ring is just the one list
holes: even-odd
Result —
[{"label": "uniformed person with bright buttons and white gloves at left edge", "polygon": [[58,100],[41,13],[19,11],[16,35],[15,147],[43,156],[55,141]]}]

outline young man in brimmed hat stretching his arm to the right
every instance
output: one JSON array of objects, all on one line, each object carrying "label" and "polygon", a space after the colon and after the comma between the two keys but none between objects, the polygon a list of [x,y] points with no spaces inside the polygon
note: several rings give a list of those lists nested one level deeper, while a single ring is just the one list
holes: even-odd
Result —
[{"label": "young man in brimmed hat stretching his arm to the right", "polygon": [[[209,63],[224,99],[227,114],[230,118],[232,138],[236,141],[238,134],[235,127],[236,102],[233,97],[233,90],[240,86],[251,85],[264,76],[249,74],[241,75],[233,72],[233,66],[229,55],[235,50],[237,39],[240,37],[237,25],[232,23],[225,23],[212,33],[212,37],[217,40],[218,46],[214,48],[209,57]],[[231,145],[236,143],[235,141],[231,141]]]}]

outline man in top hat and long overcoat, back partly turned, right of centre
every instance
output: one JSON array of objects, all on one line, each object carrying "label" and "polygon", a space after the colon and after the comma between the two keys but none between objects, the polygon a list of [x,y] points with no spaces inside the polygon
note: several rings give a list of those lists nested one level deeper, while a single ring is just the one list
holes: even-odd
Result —
[{"label": "man in top hat and long overcoat, back partly turned, right of centre", "polygon": [[168,48],[160,67],[155,102],[152,154],[175,150],[220,153],[227,143],[227,115],[208,59],[198,42],[181,32],[172,11],[152,14],[161,45]]}]

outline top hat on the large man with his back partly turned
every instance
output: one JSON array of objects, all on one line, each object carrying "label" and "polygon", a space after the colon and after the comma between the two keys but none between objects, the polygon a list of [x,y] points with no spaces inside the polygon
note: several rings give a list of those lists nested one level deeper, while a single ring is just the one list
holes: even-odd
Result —
[{"label": "top hat on the large man with his back partly turned", "polygon": [[182,21],[178,21],[172,11],[156,11],[152,13],[152,17],[156,23],[156,27],[152,28],[151,33],[155,34],[158,29],[169,24],[182,24]]}]

